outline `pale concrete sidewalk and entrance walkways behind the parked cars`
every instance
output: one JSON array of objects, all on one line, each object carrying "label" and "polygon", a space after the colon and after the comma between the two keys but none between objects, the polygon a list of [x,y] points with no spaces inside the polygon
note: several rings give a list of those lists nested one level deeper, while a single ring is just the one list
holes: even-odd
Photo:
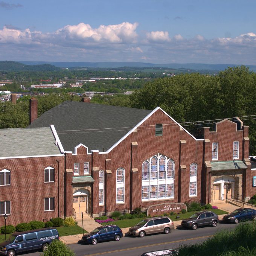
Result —
[{"label": "pale concrete sidewalk and entrance walkways behind the parked cars", "polygon": [[[213,203],[213,205],[215,205]],[[218,203],[216,204],[218,206],[218,209],[224,210],[226,212],[233,212],[233,210],[238,209],[238,206],[235,206],[233,204],[229,203]],[[221,220],[225,214],[219,215],[219,219]],[[177,226],[181,226],[181,219],[174,221],[174,229],[177,229]],[[82,227],[82,221],[78,221],[78,225]],[[96,227],[101,226],[98,222],[94,221],[93,219],[84,219],[84,229],[87,230],[88,232],[91,232],[93,229]],[[123,235],[127,233],[129,230],[129,227],[122,228]],[[82,239],[83,234],[79,235],[72,235],[72,236],[61,236],[60,240],[64,242],[65,244],[76,244],[79,240]]]}]

